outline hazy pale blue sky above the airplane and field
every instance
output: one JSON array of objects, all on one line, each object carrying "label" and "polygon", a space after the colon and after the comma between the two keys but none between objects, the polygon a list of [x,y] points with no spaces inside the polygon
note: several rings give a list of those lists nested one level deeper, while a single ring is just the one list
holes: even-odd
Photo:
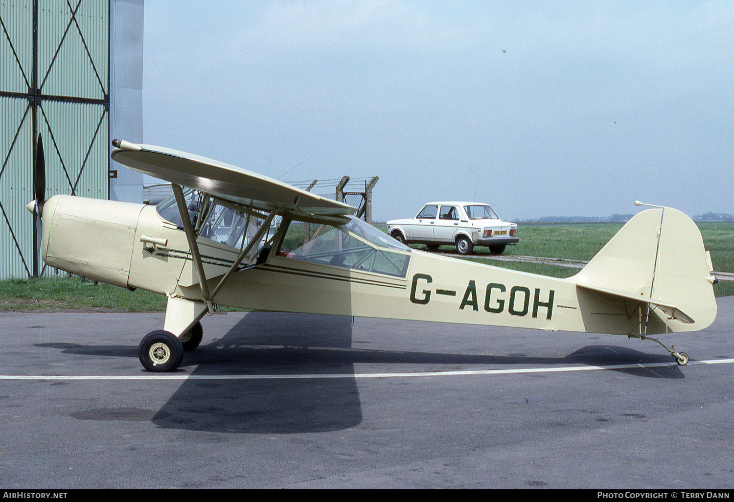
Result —
[{"label": "hazy pale blue sky above the airplane and field", "polygon": [[373,219],[734,213],[730,1],[145,0],[143,142]]}]

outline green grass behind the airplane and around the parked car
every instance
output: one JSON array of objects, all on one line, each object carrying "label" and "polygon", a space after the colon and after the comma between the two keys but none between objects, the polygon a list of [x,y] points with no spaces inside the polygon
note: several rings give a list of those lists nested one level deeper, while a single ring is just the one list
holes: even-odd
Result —
[{"label": "green grass behind the airplane and around the parked car", "polygon": [[[698,225],[705,247],[711,252],[713,268],[716,272],[734,273],[734,222],[702,222]],[[380,225],[377,227],[380,228]],[[588,261],[619,228],[622,228],[622,224],[523,224],[520,225],[520,242],[516,246],[508,246],[504,254]],[[385,230],[384,225],[382,230]],[[479,248],[479,252],[486,251]],[[483,258],[482,255],[468,259],[551,277],[570,277],[578,272],[577,269],[563,266],[496,261]],[[714,286],[714,291],[717,297],[730,296],[734,294],[734,283],[722,281]],[[59,273],[59,277],[0,281],[0,311],[57,309],[144,312],[165,308],[166,297],[159,294],[142,290],[127,291],[105,284],[94,285],[89,280],[81,282],[79,277],[68,278],[62,273]]]}]

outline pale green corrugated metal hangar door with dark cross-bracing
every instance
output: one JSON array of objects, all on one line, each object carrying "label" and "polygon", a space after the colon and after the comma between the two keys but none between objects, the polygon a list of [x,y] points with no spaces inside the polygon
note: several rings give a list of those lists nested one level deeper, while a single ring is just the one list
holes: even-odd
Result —
[{"label": "pale green corrugated metal hangar door with dark cross-bracing", "polygon": [[0,278],[35,270],[34,221],[25,208],[34,198],[34,117],[46,198],[109,197],[109,12],[104,0],[0,2]]}]

